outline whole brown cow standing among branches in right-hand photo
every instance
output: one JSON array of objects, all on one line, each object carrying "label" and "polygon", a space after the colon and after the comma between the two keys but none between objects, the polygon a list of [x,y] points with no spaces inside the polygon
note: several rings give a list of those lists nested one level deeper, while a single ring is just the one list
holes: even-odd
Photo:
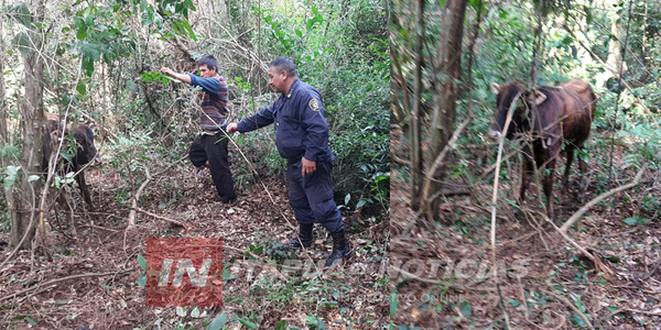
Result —
[{"label": "whole brown cow standing among branches in right-hand photo", "polygon": [[[502,134],[507,112],[512,102],[518,102],[506,138],[531,136],[524,141],[522,150],[524,164],[521,170],[521,201],[524,200],[530,176],[535,168],[534,165],[538,168],[548,168],[544,177],[546,212],[549,218],[555,219],[551,198],[553,196],[555,160],[564,142],[567,163],[563,178],[566,183],[574,158],[574,150],[583,150],[585,140],[589,136],[596,101],[592,87],[583,80],[573,79],[561,82],[557,87],[544,86],[533,91],[525,90],[524,86],[518,81],[502,86],[491,84],[491,90],[497,94],[498,112],[490,134]],[[537,105],[537,111],[533,111],[533,102]],[[581,173],[585,174],[585,162],[578,157],[578,163]],[[582,193],[584,188],[585,185],[582,185]]]}]

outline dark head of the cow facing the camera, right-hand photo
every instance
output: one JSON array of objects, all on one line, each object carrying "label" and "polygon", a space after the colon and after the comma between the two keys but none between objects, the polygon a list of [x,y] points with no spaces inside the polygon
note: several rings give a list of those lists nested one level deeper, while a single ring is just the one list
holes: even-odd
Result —
[{"label": "dark head of the cow facing the camera, right-hand photo", "polygon": [[502,134],[507,121],[507,113],[514,105],[511,122],[508,127],[505,138],[512,139],[516,132],[523,128],[524,119],[528,117],[528,111],[532,108],[532,103],[541,105],[546,100],[546,96],[539,90],[527,90],[523,84],[513,81],[505,85],[491,84],[491,91],[496,94],[496,120],[489,129],[489,136],[496,138]]}]

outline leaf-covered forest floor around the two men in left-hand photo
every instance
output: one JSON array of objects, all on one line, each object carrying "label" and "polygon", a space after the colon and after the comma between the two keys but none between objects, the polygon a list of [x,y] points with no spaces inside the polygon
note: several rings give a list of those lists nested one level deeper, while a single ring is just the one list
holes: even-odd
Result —
[{"label": "leaf-covered forest floor around the two men in left-hand photo", "polygon": [[[306,252],[279,245],[297,232],[289,224],[297,226],[284,178],[246,185],[239,200],[226,206],[215,201],[208,172],[196,174],[185,165],[161,172],[147,185],[132,230],[126,229],[134,193],[107,165],[89,170],[96,211],[84,212],[72,189],[78,200],[76,237],[67,221],[51,215],[46,253],[21,252],[0,270],[0,328],[206,329],[223,314],[225,329],[284,323],[282,329],[380,329],[388,323],[387,221],[348,215],[351,262],[315,268],[332,248],[323,228],[315,226],[316,242]],[[138,257],[144,256],[148,238],[163,237],[224,239],[224,307],[145,306]],[[8,233],[0,242],[8,242]],[[3,256],[9,253],[7,244],[1,249]],[[288,268],[286,260],[303,267]]]}]

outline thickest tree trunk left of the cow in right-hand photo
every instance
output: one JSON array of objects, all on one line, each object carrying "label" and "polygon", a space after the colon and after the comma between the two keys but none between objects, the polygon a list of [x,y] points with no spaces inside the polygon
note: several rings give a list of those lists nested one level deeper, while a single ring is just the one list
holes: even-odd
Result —
[{"label": "thickest tree trunk left of the cow in right-hand photo", "polygon": [[[447,145],[455,122],[456,101],[459,94],[457,81],[462,76],[462,40],[464,34],[464,18],[468,0],[446,0],[443,8],[441,41],[436,50],[434,75],[441,76],[441,81],[434,80],[434,107],[430,136],[429,157],[425,168],[430,168],[436,156]],[[426,173],[423,188],[423,209],[427,215],[436,217],[445,166],[440,166],[436,173]],[[430,221],[436,219],[427,219]]]}]

